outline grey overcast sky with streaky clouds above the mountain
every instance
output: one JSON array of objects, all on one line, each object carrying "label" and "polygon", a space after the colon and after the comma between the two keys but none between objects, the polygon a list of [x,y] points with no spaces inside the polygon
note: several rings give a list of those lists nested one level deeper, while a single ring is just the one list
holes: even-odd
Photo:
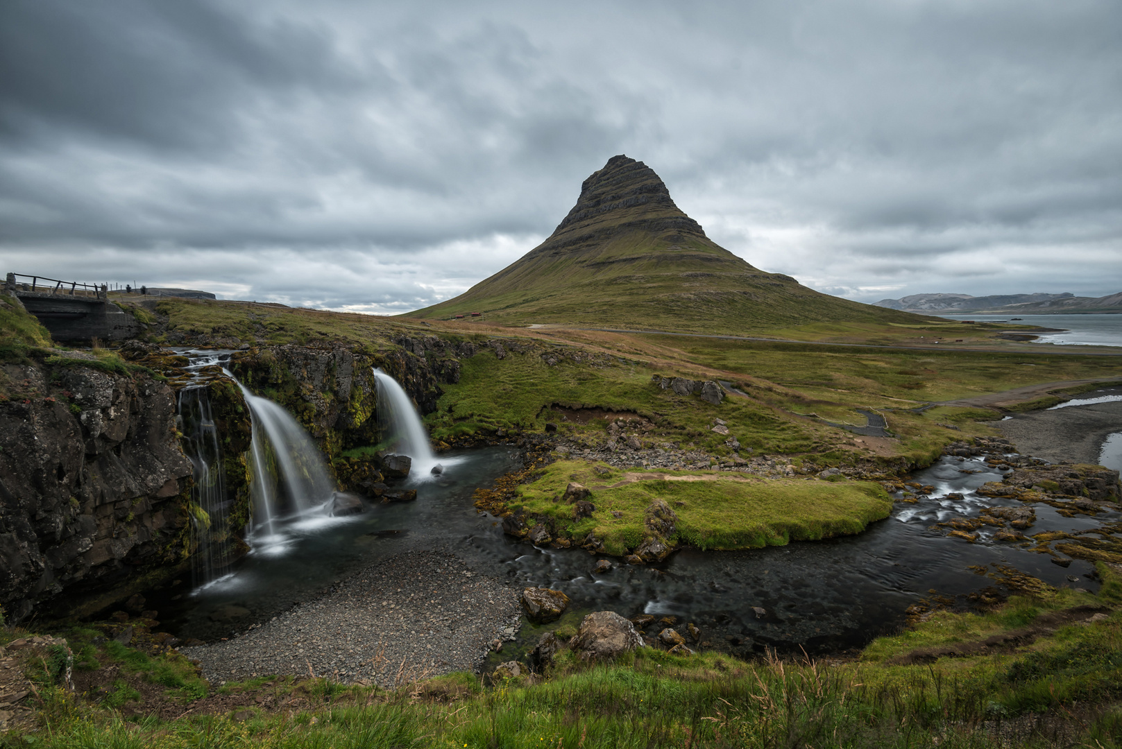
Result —
[{"label": "grey overcast sky with streaky clouds above the mountain", "polygon": [[626,154],[821,292],[1101,296],[1120,39],[1118,0],[0,0],[0,270],[406,312]]}]

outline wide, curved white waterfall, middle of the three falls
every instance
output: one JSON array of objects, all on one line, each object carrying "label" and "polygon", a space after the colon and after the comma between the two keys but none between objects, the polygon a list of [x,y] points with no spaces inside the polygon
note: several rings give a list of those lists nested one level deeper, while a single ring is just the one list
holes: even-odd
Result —
[{"label": "wide, curved white waterfall, middle of the three falls", "polygon": [[296,419],[241,382],[238,387],[252,416],[252,530],[272,534],[274,518],[303,516],[322,507],[331,500],[334,484],[319,447]]}]

